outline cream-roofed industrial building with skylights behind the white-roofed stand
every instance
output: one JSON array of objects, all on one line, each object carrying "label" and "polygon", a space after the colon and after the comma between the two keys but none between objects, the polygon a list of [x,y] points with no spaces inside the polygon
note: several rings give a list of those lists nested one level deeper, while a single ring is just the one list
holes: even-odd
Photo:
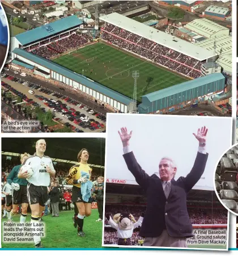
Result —
[{"label": "cream-roofed industrial building with skylights behind the white-roofed stand", "polygon": [[219,35],[229,35],[230,33],[229,28],[223,27],[222,25],[205,18],[194,19],[192,22],[186,24],[185,27],[208,39]]}]

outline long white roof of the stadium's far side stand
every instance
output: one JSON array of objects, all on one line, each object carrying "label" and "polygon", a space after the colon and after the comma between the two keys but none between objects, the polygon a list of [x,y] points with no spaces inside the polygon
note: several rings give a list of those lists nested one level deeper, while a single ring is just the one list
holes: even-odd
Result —
[{"label": "long white roof of the stadium's far side stand", "polygon": [[101,16],[100,19],[200,61],[209,59],[214,55],[213,51],[156,30],[153,27],[148,27],[143,23],[139,23],[118,13]]}]

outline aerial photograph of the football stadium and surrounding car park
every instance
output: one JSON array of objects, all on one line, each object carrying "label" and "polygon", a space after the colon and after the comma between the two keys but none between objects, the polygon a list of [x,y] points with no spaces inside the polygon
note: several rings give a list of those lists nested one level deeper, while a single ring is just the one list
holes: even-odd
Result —
[{"label": "aerial photograph of the football stadium and surrounding car park", "polygon": [[[104,133],[107,113],[231,116],[231,1],[3,1],[2,131]],[[18,127],[19,128],[19,127]]]}]

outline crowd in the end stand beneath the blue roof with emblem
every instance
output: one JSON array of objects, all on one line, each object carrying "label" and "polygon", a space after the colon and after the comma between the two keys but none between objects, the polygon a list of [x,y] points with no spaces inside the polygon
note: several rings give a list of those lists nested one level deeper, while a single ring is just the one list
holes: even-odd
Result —
[{"label": "crowd in the end stand beneath the blue roof with emblem", "polygon": [[74,32],[74,34],[69,35],[69,32],[67,32],[61,35],[60,39],[59,36],[55,36],[50,41],[49,39],[44,40],[40,43],[40,46],[33,46],[28,51],[46,59],[51,59],[70,49],[76,49],[84,44],[90,43],[92,39],[89,33]]}]

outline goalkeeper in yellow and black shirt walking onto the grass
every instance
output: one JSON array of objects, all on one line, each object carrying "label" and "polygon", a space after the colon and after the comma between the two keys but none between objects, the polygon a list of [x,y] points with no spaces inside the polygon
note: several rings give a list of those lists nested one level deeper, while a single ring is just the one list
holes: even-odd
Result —
[{"label": "goalkeeper in yellow and black shirt walking onto the grass", "polygon": [[75,222],[78,224],[78,236],[85,237],[83,232],[83,219],[84,217],[88,217],[91,215],[91,203],[92,198],[88,199],[88,201],[84,201],[82,199],[81,193],[81,184],[86,183],[88,177],[83,176],[82,172],[86,172],[89,177],[91,176],[92,169],[88,166],[88,150],[86,148],[82,148],[78,154],[78,164],[70,168],[69,175],[66,177],[67,184],[73,185],[72,188],[72,202],[76,204],[78,209],[78,215],[75,216]]}]

